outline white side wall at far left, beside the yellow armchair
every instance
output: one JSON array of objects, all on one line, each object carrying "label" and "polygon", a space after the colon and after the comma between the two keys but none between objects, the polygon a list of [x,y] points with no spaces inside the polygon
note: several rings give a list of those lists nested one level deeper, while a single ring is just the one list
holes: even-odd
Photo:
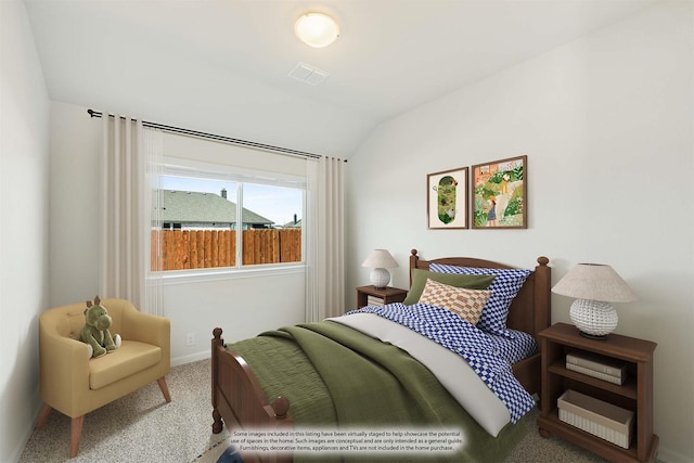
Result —
[{"label": "white side wall at far left, beside the yellow armchair", "polygon": [[38,413],[38,316],[48,306],[49,100],[21,1],[0,2],[0,461]]}]

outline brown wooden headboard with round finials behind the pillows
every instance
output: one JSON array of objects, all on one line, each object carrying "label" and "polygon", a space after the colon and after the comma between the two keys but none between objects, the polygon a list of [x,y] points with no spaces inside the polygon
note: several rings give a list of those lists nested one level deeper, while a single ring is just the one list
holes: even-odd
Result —
[{"label": "brown wooden headboard with round finials behind the pillows", "polygon": [[[428,270],[429,263],[445,263],[459,267],[481,267],[490,269],[513,269],[514,267],[491,260],[472,257],[442,257],[424,260],[412,249],[410,255],[410,285],[412,284],[412,269]],[[509,311],[506,326],[512,330],[525,331],[537,338],[537,334],[550,326],[551,323],[551,286],[552,269],[548,267],[550,259],[538,257],[535,271],[530,273],[523,287],[513,299]]]}]

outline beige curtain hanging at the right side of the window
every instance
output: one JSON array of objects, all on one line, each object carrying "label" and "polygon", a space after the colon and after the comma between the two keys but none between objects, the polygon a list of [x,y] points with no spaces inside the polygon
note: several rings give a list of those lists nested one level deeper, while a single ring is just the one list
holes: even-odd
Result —
[{"label": "beige curtain hanging at the right side of the window", "polygon": [[309,159],[306,206],[306,320],[345,312],[345,163]]}]

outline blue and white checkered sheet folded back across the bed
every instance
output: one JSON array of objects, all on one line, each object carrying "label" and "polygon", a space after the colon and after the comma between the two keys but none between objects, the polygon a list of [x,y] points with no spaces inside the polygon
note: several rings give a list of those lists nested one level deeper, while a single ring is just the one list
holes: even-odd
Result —
[{"label": "blue and white checkered sheet folded back across the bed", "polygon": [[537,350],[531,336],[532,343],[528,343],[526,336],[520,336],[525,343],[517,343],[507,336],[488,335],[450,310],[426,304],[404,306],[395,303],[380,307],[367,306],[347,314],[351,313],[375,313],[407,326],[463,357],[503,402],[513,423],[535,406],[532,396],[523,388],[511,369],[511,363],[520,357],[527,357],[525,350]]}]

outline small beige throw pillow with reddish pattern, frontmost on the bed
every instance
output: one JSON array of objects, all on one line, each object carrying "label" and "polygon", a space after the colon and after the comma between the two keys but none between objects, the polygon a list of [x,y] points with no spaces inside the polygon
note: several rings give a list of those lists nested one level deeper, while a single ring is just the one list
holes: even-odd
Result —
[{"label": "small beige throw pillow with reddish pattern, frontmost on the bed", "polygon": [[420,303],[448,309],[475,325],[489,296],[491,291],[454,287],[427,279]]}]

